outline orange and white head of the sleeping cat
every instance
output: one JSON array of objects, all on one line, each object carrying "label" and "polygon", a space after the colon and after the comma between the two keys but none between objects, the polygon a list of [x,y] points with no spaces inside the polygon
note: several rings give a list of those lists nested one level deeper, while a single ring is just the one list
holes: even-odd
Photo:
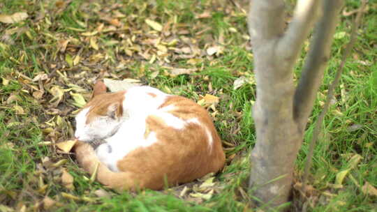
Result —
[{"label": "orange and white head of the sleeping cat", "polygon": [[106,93],[105,84],[96,82],[91,100],[75,117],[76,139],[92,142],[114,135],[122,121],[124,93]]}]

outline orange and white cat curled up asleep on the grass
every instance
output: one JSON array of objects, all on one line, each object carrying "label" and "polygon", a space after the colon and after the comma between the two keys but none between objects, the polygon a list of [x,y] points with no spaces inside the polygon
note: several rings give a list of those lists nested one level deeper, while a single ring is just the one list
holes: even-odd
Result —
[{"label": "orange and white cat curled up asleep on the grass", "polygon": [[[79,165],[110,188],[161,189],[218,172],[225,155],[207,111],[150,86],[106,93],[103,82],[76,116]],[[90,142],[104,140],[95,150]]]}]

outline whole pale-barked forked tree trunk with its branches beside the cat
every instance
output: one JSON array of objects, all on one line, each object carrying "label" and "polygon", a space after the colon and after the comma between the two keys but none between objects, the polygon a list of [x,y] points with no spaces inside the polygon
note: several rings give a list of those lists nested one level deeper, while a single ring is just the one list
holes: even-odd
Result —
[{"label": "whole pale-barked forked tree trunk with its branches beside the cat", "polygon": [[[249,33],[256,73],[257,98],[253,118],[257,141],[251,151],[249,185],[260,204],[276,207],[288,202],[295,160],[315,100],[312,93],[316,93],[323,77],[327,62],[324,58],[328,59],[330,54],[341,2],[299,1],[293,21],[284,33],[283,0],[251,0]],[[323,13],[303,73],[314,78],[303,77],[305,81],[300,81],[301,86],[296,89],[293,67],[317,20],[318,10]],[[310,62],[317,59],[319,65]],[[310,86],[306,88],[305,83]],[[305,92],[311,95],[302,96]]]}]

